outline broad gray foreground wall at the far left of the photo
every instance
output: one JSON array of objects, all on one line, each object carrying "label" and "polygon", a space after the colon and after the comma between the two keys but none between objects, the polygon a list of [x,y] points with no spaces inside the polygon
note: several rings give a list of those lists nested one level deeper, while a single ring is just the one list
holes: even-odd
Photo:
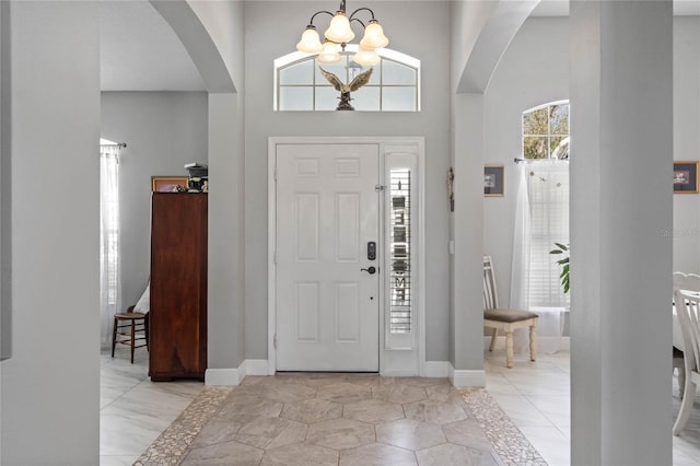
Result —
[{"label": "broad gray foreground wall at the far left of the photo", "polygon": [[100,463],[97,2],[13,2],[3,465]]}]

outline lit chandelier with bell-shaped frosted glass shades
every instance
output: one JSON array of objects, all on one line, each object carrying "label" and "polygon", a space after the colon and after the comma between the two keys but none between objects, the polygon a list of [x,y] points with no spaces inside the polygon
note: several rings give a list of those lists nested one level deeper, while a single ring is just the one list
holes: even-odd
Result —
[{"label": "lit chandelier with bell-shaped frosted glass shades", "polygon": [[[366,26],[355,15],[360,12],[368,11],[372,15]],[[314,26],[314,19],[318,14],[328,14],[332,16],[330,25],[324,33],[325,40],[322,44]],[[345,51],[346,45],[354,38],[354,33],[350,27],[350,23],[357,21],[364,28],[364,36],[360,40],[358,51],[352,57],[352,60],[360,65],[376,65],[380,62],[380,56],[376,53],[377,48],[386,47],[389,39],[384,35],[384,30],[380,25],[380,22],[374,18],[374,12],[369,8],[359,8],[348,16],[346,14],[346,0],[340,1],[340,7],[336,13],[329,11],[317,11],[311,16],[308,26],[302,34],[302,39],[296,44],[299,51],[306,54],[318,54],[316,60],[322,63],[337,63],[341,60],[340,51]]]}]

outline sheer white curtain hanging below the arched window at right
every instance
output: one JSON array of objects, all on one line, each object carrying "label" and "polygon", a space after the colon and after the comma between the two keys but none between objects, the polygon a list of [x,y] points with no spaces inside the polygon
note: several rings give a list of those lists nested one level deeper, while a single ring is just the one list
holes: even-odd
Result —
[{"label": "sheer white curtain hanging below the arched window at right", "polygon": [[[559,277],[562,256],[549,252],[555,243],[569,244],[569,162],[525,161],[518,174],[511,307],[539,314],[538,352],[553,353],[561,346],[569,294]],[[513,334],[515,352],[528,351],[526,331]]]}]

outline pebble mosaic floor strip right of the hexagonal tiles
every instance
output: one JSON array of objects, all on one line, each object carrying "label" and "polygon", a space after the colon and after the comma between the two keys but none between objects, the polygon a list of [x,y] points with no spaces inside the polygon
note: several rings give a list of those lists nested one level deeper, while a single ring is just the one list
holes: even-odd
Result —
[{"label": "pebble mosaic floor strip right of the hexagonal tiles", "polygon": [[471,416],[486,432],[503,464],[547,466],[547,462],[483,388],[460,389]]}]

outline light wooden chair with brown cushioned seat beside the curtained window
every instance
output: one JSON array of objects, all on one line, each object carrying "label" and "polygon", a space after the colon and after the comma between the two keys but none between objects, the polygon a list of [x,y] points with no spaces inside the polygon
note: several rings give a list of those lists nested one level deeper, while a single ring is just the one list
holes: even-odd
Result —
[{"label": "light wooden chair with brown cushioned seat beside the curtained window", "polygon": [[499,330],[505,333],[505,365],[513,366],[513,330],[529,327],[529,360],[537,359],[537,321],[539,316],[529,311],[499,307],[495,278],[491,256],[483,256],[483,326],[492,328],[489,351],[493,351]]}]

